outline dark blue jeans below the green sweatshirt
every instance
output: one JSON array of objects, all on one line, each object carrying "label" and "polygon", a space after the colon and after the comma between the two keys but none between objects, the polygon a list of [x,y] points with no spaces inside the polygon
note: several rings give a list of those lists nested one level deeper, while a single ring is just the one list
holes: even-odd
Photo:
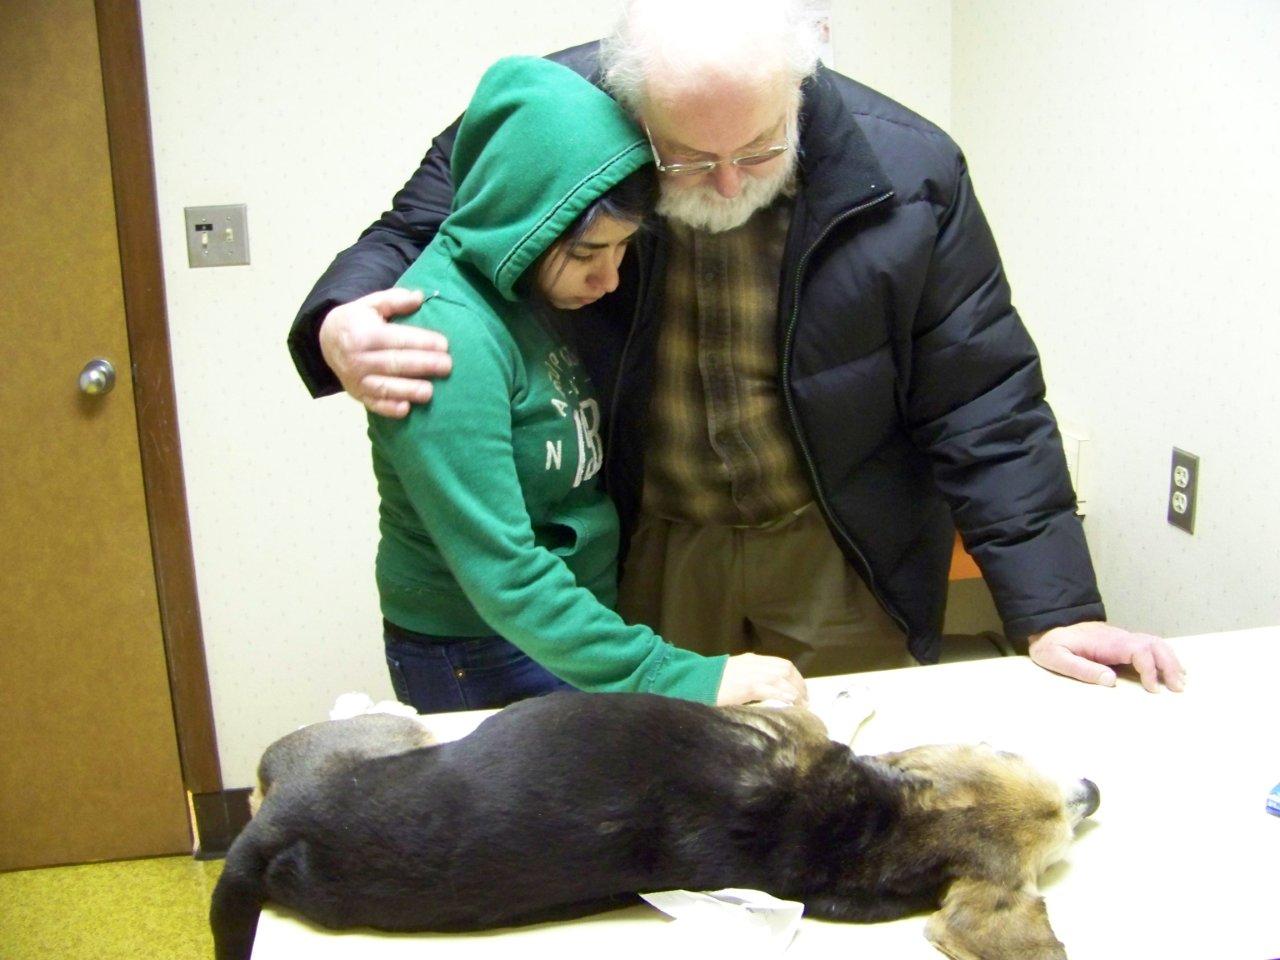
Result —
[{"label": "dark blue jeans below the green sweatshirt", "polygon": [[419,713],[484,710],[573,689],[500,636],[404,634],[384,634],[387,668],[396,699]]}]

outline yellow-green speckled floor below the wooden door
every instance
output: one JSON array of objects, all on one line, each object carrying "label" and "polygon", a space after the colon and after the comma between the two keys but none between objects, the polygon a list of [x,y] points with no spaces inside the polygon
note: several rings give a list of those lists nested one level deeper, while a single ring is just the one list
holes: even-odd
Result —
[{"label": "yellow-green speckled floor below the wooden door", "polygon": [[206,960],[221,860],[156,860],[0,873],[3,960]]}]

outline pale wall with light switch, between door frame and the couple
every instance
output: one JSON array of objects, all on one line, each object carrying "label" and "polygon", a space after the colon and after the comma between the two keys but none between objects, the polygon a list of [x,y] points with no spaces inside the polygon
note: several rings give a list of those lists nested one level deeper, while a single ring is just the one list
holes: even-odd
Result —
[{"label": "pale wall with light switch, between door frame and the couple", "polygon": [[[591,40],[515,0],[143,0],[192,538],[224,778],[323,719],[390,696],[362,408],[311,401],[284,346],[303,296],[417,168],[484,68]],[[248,205],[251,266],[191,270],[182,209]]]}]

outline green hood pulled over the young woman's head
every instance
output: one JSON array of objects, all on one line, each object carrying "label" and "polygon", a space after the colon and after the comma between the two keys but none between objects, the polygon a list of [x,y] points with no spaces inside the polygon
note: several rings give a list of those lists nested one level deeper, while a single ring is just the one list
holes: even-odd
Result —
[{"label": "green hood pulled over the young woman's head", "polygon": [[451,160],[440,234],[507,300],[516,280],[602,195],[652,163],[622,108],[567,67],[498,60],[480,79]]}]

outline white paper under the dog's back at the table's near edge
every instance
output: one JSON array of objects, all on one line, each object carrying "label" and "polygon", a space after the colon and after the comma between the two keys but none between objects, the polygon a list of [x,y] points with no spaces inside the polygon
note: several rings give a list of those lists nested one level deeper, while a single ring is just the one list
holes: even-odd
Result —
[{"label": "white paper under the dog's back at the table's near edge", "polygon": [[641,899],[675,920],[672,931],[689,947],[744,956],[781,956],[800,929],[804,904],[760,890],[664,890]]}]

